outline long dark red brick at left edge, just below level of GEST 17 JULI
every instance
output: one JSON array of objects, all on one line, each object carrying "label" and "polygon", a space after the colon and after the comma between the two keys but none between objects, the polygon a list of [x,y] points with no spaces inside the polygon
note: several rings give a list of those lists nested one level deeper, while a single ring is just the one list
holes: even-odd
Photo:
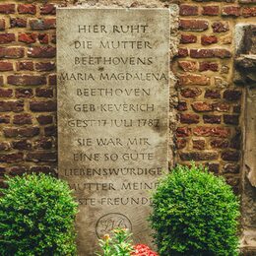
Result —
[{"label": "long dark red brick at left edge, just below level of GEST 17 JULI", "polygon": [[4,128],[3,132],[5,137],[14,138],[14,137],[34,137],[39,134],[38,127],[26,127],[26,128],[15,128],[8,127]]}]

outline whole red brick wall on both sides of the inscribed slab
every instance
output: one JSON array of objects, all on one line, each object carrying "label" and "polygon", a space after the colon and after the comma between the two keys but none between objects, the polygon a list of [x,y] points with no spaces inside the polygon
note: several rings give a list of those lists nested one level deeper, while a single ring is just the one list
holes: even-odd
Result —
[{"label": "whole red brick wall on both sides of the inscribed slab", "polygon": [[[83,2],[136,7],[145,1]],[[73,2],[79,4],[0,2],[1,176],[56,169],[55,5]],[[152,6],[169,3],[155,0]],[[181,40],[172,63],[179,79],[176,161],[206,163],[237,190],[243,89],[232,84],[232,36],[235,24],[255,23],[256,2],[198,0],[179,6]]]}]

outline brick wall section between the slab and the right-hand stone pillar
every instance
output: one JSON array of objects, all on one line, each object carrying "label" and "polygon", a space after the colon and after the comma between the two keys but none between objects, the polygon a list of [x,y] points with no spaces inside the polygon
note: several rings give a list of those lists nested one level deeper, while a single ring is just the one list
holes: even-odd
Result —
[{"label": "brick wall section between the slab and the right-hand stone pillar", "polygon": [[233,85],[234,26],[256,23],[256,1],[180,4],[177,161],[205,162],[237,191],[243,88]]}]

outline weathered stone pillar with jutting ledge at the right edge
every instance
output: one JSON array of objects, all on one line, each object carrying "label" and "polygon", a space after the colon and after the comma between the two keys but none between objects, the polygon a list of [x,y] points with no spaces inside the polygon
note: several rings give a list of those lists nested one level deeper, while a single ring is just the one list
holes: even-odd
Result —
[{"label": "weathered stone pillar with jutting ledge at the right edge", "polygon": [[[256,26],[235,26],[234,83],[245,86],[242,166],[242,255],[255,255],[256,251]],[[235,120],[233,120],[235,121]],[[238,120],[237,120],[238,121]],[[232,139],[231,147],[239,147],[239,132]],[[229,169],[229,168],[228,168]],[[235,166],[231,172],[237,172]]]}]

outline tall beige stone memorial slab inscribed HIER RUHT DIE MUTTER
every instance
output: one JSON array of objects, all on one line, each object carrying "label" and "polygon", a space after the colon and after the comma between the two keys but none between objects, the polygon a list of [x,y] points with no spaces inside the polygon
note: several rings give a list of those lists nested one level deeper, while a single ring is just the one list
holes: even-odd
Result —
[{"label": "tall beige stone memorial slab inscribed HIER RUHT DIE MUTTER", "polygon": [[75,190],[79,255],[126,227],[151,244],[167,170],[168,9],[57,10],[58,171]]}]

